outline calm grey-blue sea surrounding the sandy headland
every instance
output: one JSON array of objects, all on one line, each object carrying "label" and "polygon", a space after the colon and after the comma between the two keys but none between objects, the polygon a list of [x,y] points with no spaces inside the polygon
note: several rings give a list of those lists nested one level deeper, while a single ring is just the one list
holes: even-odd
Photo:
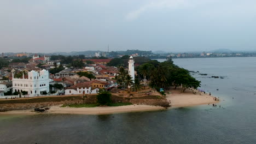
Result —
[{"label": "calm grey-blue sea surrounding the sandy headland", "polygon": [[200,89],[222,100],[217,107],[100,116],[1,116],[0,143],[256,143],[256,57],[173,61],[208,74],[193,76],[201,81]]}]

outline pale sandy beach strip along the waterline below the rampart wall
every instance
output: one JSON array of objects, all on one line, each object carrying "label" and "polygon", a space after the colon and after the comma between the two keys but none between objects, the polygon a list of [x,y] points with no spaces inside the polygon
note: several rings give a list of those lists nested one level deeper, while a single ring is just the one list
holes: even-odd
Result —
[{"label": "pale sandy beach strip along the waterline below the rampart wall", "polygon": [[[166,91],[166,99],[168,101],[171,101],[170,108],[216,104],[219,102],[219,101],[214,101],[213,99],[214,97],[212,97],[209,94],[200,93],[198,91],[196,91],[196,94],[193,94],[192,91],[189,89],[187,89],[184,93],[180,93],[180,91],[181,90],[179,88],[172,89],[171,91]],[[61,107],[61,105],[59,105],[59,106],[51,106],[50,110],[48,110],[48,112],[45,112],[45,113],[106,115],[110,113],[156,111],[156,110],[166,110],[166,108],[161,106],[152,106],[152,105],[126,105],[126,106],[104,106],[104,107]],[[8,114],[31,115],[31,114],[35,114],[35,112],[33,112],[32,110],[0,112],[0,115],[8,115]]]}]

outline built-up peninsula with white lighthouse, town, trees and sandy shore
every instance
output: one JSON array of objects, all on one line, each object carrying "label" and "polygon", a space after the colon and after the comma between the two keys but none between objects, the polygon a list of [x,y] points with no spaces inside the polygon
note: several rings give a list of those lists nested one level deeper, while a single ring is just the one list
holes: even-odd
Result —
[{"label": "built-up peninsula with white lighthouse, town, trees and sandy shore", "polygon": [[[38,55],[29,61],[32,64],[38,59],[51,63],[50,57]],[[49,72],[40,68],[38,72],[11,70],[13,88],[0,96],[1,115],[32,114],[42,107],[48,107],[42,110],[46,113],[103,115],[218,102],[211,94],[197,91],[201,82],[174,65],[171,58],[162,63],[136,55],[75,59],[73,68],[57,66],[61,61],[53,62]]]}]

